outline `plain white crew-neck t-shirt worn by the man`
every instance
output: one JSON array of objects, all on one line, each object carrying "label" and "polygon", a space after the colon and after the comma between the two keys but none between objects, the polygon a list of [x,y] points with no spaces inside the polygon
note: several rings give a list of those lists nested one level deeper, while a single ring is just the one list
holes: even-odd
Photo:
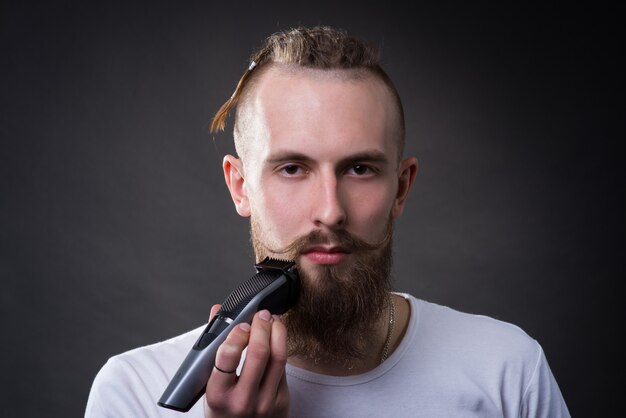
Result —
[{"label": "plain white crew-neck t-shirt worn by the man", "polygon": [[[402,294],[411,317],[375,369],[337,377],[287,365],[292,417],[569,417],[540,345],[519,327]],[[85,417],[202,417],[157,405],[205,325],[110,358]]]}]

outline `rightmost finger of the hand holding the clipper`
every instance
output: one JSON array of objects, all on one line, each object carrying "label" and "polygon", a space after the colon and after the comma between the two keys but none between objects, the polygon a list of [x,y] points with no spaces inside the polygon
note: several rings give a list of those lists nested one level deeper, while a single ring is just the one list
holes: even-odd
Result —
[{"label": "rightmost finger of the hand holding the clipper", "polygon": [[284,406],[285,401],[288,405],[286,364],[287,329],[278,317],[274,317],[270,335],[270,357],[259,390],[258,413],[260,416],[265,416],[269,411],[275,410],[278,405]]}]

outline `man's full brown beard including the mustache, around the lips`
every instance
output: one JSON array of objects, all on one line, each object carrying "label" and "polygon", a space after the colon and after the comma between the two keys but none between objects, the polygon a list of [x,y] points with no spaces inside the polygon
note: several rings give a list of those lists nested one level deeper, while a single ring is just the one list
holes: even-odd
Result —
[{"label": "man's full brown beard including the mustache, around the lips", "polygon": [[388,306],[391,290],[393,224],[378,243],[368,243],[345,230],[313,231],[285,248],[271,249],[261,240],[260,225],[251,220],[251,240],[257,259],[276,256],[298,260],[311,246],[332,243],[350,253],[340,265],[298,266],[300,295],[282,316],[289,356],[348,364],[364,358],[376,343],[375,328]]}]

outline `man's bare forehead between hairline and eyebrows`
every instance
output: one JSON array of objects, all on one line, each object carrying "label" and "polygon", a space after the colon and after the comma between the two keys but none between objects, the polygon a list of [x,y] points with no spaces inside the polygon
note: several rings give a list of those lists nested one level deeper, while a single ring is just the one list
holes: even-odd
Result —
[{"label": "man's bare forehead between hairline and eyebrows", "polygon": [[381,151],[398,151],[393,96],[375,76],[293,65],[272,66],[258,76],[238,112],[242,148],[267,155],[267,141],[276,137],[289,137],[293,149],[329,136],[347,137],[355,146],[366,139],[355,136],[380,136],[390,143]]}]

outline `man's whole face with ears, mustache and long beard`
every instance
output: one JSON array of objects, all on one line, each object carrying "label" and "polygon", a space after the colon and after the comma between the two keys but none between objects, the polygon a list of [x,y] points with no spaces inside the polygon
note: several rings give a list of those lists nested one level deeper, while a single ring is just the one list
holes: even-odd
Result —
[{"label": "man's whole face with ears, mustache and long beard", "polygon": [[257,259],[297,261],[302,290],[283,318],[290,355],[363,357],[388,303],[392,222],[417,167],[399,162],[391,95],[373,78],[270,69],[244,106],[242,160],[227,156],[224,174],[251,217]]}]

